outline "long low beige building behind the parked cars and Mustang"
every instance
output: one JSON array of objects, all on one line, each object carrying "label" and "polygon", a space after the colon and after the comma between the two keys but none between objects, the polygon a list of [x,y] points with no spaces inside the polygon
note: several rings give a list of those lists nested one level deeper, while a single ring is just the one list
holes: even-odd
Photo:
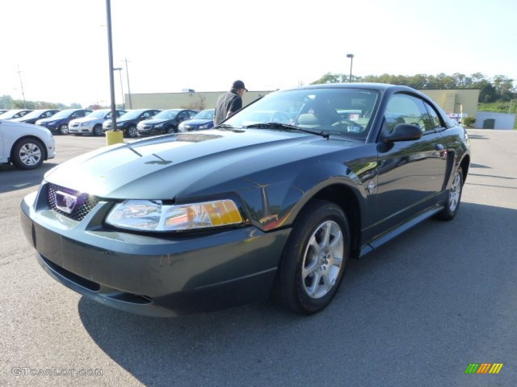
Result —
[{"label": "long low beige building behind the parked cars and Mustang", "polygon": [[[246,106],[257,98],[272,92],[273,90],[248,91],[242,96],[242,105]],[[456,117],[467,115],[476,117],[478,111],[478,89],[440,89],[440,90],[420,90],[430,96],[445,112]],[[198,108],[200,103],[205,109],[214,108],[219,95],[224,91],[200,91],[180,93],[146,93],[133,94],[131,100],[129,95],[125,95],[126,108],[130,109],[174,109],[174,108]],[[130,103],[131,101],[131,103]]]}]

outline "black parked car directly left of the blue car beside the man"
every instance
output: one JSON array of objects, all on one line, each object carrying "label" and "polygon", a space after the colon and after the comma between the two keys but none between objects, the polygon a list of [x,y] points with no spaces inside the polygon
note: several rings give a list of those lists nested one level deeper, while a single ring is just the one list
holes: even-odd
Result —
[{"label": "black parked car directly left of the blue car beside the man", "polygon": [[176,133],[181,122],[194,117],[198,112],[190,109],[163,110],[151,119],[140,121],[136,125],[136,131],[142,137]]}]

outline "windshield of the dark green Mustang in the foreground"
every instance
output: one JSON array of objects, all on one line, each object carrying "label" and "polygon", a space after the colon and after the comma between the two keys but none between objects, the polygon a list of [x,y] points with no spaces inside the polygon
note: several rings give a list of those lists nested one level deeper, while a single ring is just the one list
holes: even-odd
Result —
[{"label": "windshield of the dark green Mustang in the foreground", "polygon": [[278,91],[265,95],[224,123],[233,127],[288,124],[366,140],[379,97],[376,90],[345,87]]}]

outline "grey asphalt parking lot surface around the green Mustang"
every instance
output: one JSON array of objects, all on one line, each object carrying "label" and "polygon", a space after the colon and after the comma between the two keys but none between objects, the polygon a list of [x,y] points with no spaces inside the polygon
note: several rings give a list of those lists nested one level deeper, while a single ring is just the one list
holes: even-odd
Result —
[{"label": "grey asphalt parking lot surface around the green Mustang", "polygon": [[[351,262],[323,312],[263,303],[170,319],[90,301],[36,263],[20,201],[45,171],[105,145],[55,136],[42,168],[0,166],[0,385],[517,385],[517,131],[468,133],[458,216]],[[470,363],[503,366],[465,374]]]}]

